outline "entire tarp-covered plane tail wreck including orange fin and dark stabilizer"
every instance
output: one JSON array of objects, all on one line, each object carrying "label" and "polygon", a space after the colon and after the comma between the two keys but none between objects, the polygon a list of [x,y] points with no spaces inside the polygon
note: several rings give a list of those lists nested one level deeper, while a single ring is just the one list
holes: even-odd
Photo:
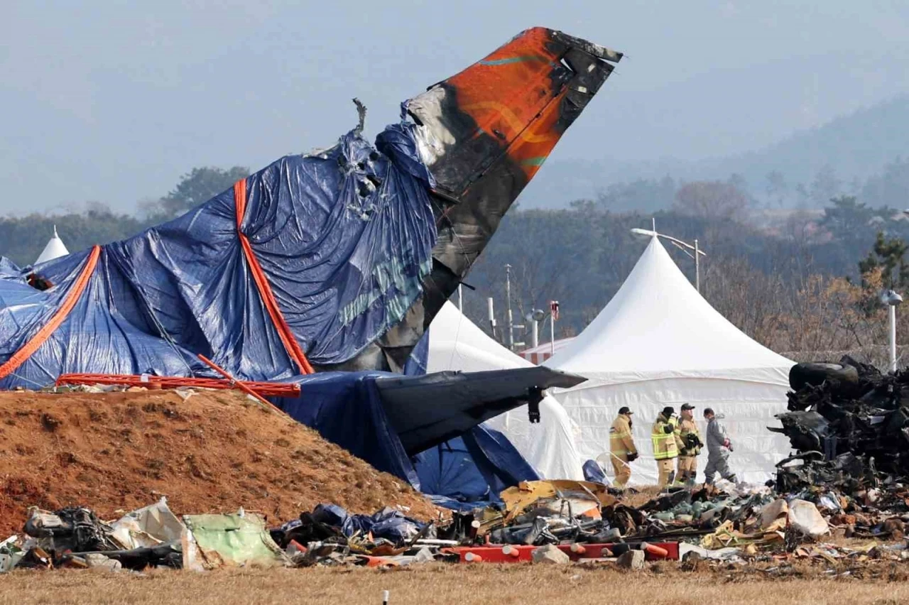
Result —
[{"label": "entire tarp-covered plane tail wreck including orange fin and dark stabilizer", "polygon": [[[470,499],[532,478],[477,425],[583,379],[388,372],[422,373],[425,328],[621,58],[529,29],[405,102],[375,146],[361,114],[334,147],[131,239],[22,272],[0,260],[0,389],[64,373],[216,377],[204,355],[238,379],[301,382],[285,410],[415,486]],[[464,455],[445,442],[473,466],[449,463]]]}]

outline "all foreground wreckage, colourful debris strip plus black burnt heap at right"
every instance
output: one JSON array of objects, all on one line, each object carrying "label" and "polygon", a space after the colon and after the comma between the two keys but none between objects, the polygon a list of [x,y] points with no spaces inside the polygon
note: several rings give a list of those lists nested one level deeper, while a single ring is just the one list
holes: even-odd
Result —
[{"label": "all foreground wreckage, colourful debris strip plus black burnt heap at right", "polygon": [[430,561],[641,569],[645,560],[764,563],[769,571],[811,560],[839,575],[866,561],[909,560],[909,374],[844,358],[796,365],[790,382],[790,411],[771,430],[784,432],[796,454],[765,485],[674,487],[632,506],[634,490],[600,482],[521,481],[500,501],[428,522],[403,509],[363,515],[333,504],[271,527],[253,511],[177,517],[164,499],[116,521],[81,507],[32,509],[22,535],[0,541],[0,571]]}]

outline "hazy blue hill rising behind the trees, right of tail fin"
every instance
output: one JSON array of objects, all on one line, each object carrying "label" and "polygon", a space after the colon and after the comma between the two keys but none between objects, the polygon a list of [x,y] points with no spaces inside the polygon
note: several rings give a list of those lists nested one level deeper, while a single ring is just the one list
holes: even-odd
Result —
[{"label": "hazy blue hill rising behind the trees, right of tail fin", "polygon": [[[869,180],[893,179],[894,166],[898,168],[895,172],[903,172],[903,158],[909,158],[909,96],[874,104],[745,154],[699,161],[554,160],[544,165],[534,186],[519,201],[524,208],[564,208],[574,200],[596,199],[621,183],[646,182],[653,187],[666,177],[684,182],[726,180],[737,174],[747,193],[774,207],[820,207],[829,201],[828,195],[841,193],[860,197],[867,193],[872,198],[866,200],[870,205],[899,206],[904,205],[902,200],[890,198],[902,195],[903,187],[887,192],[886,199],[877,199],[884,196],[881,183],[867,191],[864,188]],[[782,190],[774,190],[769,182],[772,173]],[[819,178],[828,183],[815,183]],[[903,199],[909,199],[909,187],[905,193]],[[644,198],[635,199],[635,207],[620,204],[613,209],[653,212],[668,205],[659,194]]]}]

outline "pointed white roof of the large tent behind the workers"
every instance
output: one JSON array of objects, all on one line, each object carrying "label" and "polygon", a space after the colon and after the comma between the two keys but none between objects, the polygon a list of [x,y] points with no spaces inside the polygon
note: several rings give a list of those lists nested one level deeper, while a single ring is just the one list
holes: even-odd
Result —
[{"label": "pointed white roof of the large tent behind the workers", "polygon": [[545,362],[594,379],[581,389],[672,377],[784,383],[793,364],[716,312],[656,237],[603,311]]}]

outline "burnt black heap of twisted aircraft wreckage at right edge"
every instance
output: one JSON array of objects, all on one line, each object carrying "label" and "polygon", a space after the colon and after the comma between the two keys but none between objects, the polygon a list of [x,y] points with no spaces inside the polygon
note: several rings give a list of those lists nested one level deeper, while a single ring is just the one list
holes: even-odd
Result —
[{"label": "burnt black heap of twisted aircraft wreckage at right edge", "polygon": [[777,414],[796,453],[777,465],[777,488],[839,484],[855,489],[909,477],[909,373],[882,374],[844,357],[799,363],[789,412]]}]

